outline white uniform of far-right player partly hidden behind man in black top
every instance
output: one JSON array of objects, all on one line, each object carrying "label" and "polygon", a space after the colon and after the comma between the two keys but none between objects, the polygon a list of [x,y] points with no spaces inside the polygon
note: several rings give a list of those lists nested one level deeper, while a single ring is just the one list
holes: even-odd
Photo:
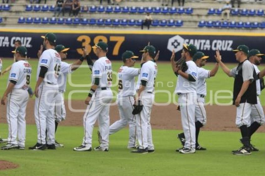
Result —
[{"label": "white uniform of far-right player partly hidden behind man in black top", "polygon": [[[254,64],[253,66],[258,75],[258,73],[260,72],[258,67]],[[256,80],[256,87],[257,87],[257,104],[252,105],[251,113],[250,113],[250,123],[252,124],[253,122],[258,122],[260,125],[263,125],[265,122],[265,118],[264,118],[263,107],[258,97],[261,94],[259,79]]]}]

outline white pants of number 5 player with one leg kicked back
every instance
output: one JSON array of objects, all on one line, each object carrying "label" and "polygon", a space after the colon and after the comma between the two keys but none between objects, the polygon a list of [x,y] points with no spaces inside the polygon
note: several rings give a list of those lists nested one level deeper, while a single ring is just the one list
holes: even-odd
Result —
[{"label": "white pants of number 5 player with one leg kicked back", "polygon": [[109,127],[109,134],[118,132],[120,129],[129,124],[129,142],[128,148],[136,146],[136,122],[135,116],[132,115],[134,104],[133,96],[118,97],[118,109],[120,113],[120,120],[114,122]]}]

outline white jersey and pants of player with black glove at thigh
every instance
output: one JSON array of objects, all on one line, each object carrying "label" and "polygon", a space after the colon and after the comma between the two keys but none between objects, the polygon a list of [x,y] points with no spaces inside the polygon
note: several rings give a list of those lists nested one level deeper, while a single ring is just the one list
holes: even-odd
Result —
[{"label": "white jersey and pants of player with black glove at thigh", "polygon": [[147,61],[146,63],[144,63],[142,65],[138,77],[138,81],[147,81],[146,87],[140,95],[140,100],[142,101],[143,109],[139,114],[135,115],[137,138],[140,149],[147,148],[148,150],[154,150],[150,115],[155,99],[154,86],[156,77],[157,64],[153,61]]}]

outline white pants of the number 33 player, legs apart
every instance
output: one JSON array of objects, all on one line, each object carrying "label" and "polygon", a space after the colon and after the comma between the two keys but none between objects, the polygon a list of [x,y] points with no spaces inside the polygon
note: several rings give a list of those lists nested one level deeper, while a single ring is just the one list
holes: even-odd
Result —
[{"label": "white pants of the number 33 player, legs apart", "polygon": [[92,132],[96,120],[99,123],[99,132],[101,135],[100,147],[107,148],[109,145],[109,107],[112,100],[112,91],[96,91],[87,106],[84,114],[84,138],[83,146],[92,146]]}]

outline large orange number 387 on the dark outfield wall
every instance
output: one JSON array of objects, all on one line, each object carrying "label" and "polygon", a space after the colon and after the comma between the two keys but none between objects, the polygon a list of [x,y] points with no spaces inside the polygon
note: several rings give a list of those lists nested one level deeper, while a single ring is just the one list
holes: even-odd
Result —
[{"label": "large orange number 387 on the dark outfield wall", "polygon": [[[118,55],[119,54],[119,49],[120,49],[122,43],[124,42],[124,40],[125,40],[124,36],[109,36],[109,41],[110,42],[116,42],[115,45],[114,45],[114,48],[112,50],[113,51],[112,55]],[[91,44],[91,38],[89,36],[87,36],[87,35],[80,35],[77,38],[77,41],[82,42],[82,46],[88,45],[89,53],[92,50],[91,45],[93,46],[94,44],[99,43],[99,41],[103,41],[105,43],[108,43],[108,39],[104,35],[95,36],[94,40],[93,40],[94,44]],[[83,54],[83,51],[82,51],[81,48],[78,48],[76,50],[77,50],[77,52],[79,54],[81,54],[81,55]],[[95,53],[96,49],[93,49],[93,52]]]}]

